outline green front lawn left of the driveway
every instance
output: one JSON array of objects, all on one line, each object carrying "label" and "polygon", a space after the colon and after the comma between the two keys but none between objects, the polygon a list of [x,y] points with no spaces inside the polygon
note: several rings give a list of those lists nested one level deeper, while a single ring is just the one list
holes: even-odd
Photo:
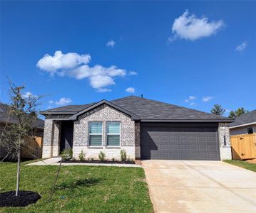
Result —
[{"label": "green front lawn left of the driveway", "polygon": [[[56,171],[55,165],[22,165],[20,190],[42,198],[28,207],[0,207],[0,212],[153,212],[142,168],[62,166],[49,202]],[[0,192],[15,185],[16,163],[0,163]]]}]

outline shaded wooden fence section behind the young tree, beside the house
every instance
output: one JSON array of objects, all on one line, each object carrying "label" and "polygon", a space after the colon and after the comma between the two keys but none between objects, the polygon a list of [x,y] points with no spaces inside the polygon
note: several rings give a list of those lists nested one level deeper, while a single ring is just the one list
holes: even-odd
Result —
[{"label": "shaded wooden fence section behind the young tree, beside the house", "polygon": [[34,137],[34,139],[28,139],[28,143],[26,143],[26,148],[22,149],[21,157],[22,158],[41,158],[42,157],[42,149],[43,149],[43,138]]}]

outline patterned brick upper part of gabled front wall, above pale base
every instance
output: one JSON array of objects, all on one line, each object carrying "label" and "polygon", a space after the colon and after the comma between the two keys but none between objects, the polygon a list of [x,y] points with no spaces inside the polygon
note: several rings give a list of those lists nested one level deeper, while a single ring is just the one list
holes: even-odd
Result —
[{"label": "patterned brick upper part of gabled front wall, above pale base", "polygon": [[78,116],[78,121],[74,122],[73,147],[88,146],[88,123],[90,121],[103,122],[103,146],[106,146],[106,122],[121,122],[121,147],[135,146],[135,124],[130,116],[123,114],[121,111],[113,109],[103,104],[96,109],[88,111]]}]

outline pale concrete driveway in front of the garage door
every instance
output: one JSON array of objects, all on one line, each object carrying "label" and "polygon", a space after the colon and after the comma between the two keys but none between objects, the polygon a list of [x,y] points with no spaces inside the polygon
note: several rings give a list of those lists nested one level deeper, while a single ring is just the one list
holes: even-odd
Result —
[{"label": "pale concrete driveway in front of the garage door", "polygon": [[256,212],[256,173],[220,161],[143,160],[155,212]]}]

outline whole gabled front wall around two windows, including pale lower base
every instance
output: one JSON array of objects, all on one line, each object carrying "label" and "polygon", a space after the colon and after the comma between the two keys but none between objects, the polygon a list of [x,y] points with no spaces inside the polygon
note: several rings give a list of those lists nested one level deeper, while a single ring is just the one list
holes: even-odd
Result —
[{"label": "whole gabled front wall around two windows, including pale lower base", "polygon": [[[90,147],[88,146],[88,124],[90,121],[103,122],[103,146]],[[119,121],[121,122],[121,146],[111,148],[106,146],[106,122]],[[103,104],[96,109],[86,112],[78,116],[78,120],[74,121],[73,133],[73,157],[78,159],[79,153],[83,150],[86,153],[86,158],[98,158],[98,153],[103,151],[106,153],[106,158],[120,158],[121,148],[126,150],[129,158],[135,158],[135,122],[130,119],[130,116],[123,114],[121,111],[113,109],[106,104]]]}]

